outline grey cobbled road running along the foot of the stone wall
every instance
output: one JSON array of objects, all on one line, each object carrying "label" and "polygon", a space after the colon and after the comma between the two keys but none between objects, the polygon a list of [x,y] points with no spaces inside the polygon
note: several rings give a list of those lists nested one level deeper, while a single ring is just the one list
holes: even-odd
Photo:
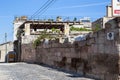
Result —
[{"label": "grey cobbled road running along the foot of the stone wall", "polygon": [[27,63],[0,63],[0,80],[93,80]]}]

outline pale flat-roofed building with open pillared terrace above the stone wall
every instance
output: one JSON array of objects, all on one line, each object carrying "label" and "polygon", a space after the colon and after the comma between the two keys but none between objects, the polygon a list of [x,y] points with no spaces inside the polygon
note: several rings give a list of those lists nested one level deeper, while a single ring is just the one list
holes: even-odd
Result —
[{"label": "pale flat-roofed building with open pillared terrace above the stone wall", "polygon": [[[82,31],[70,31],[71,26],[76,28],[87,28],[91,29],[91,21],[89,18],[85,17],[80,19],[80,21],[62,21],[58,20],[61,17],[57,17],[56,21],[54,20],[28,20],[26,16],[16,17],[14,24],[14,41],[18,40],[18,34],[21,33],[22,42],[31,42],[34,41],[38,35],[47,29],[48,34],[53,36],[61,35],[63,37],[75,37],[81,34],[87,34],[88,32]],[[53,33],[53,29],[56,29],[56,32]],[[21,31],[20,31],[21,30]],[[58,32],[58,33],[57,33]],[[29,39],[28,39],[29,38]]]}]

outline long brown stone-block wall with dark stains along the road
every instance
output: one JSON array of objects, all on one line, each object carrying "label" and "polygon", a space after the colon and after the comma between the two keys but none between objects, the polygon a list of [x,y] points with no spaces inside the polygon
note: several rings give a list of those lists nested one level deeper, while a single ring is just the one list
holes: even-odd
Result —
[{"label": "long brown stone-block wall with dark stains along the road", "polygon": [[[112,33],[113,39],[108,33]],[[120,28],[103,29],[88,35],[85,41],[22,45],[21,60],[44,63],[76,71],[102,80],[117,80],[119,75]]]}]

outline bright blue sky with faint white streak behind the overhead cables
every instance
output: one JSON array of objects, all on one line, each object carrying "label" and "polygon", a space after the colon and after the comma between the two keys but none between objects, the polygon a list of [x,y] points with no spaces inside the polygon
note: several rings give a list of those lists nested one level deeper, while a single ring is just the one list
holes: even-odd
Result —
[{"label": "bright blue sky with faint white streak behind the overhead cables", "polygon": [[[13,39],[15,16],[33,15],[47,0],[1,0],[0,1],[0,43],[4,34],[8,41]],[[43,15],[49,17],[90,17],[92,21],[106,14],[106,5],[111,0],[57,0]],[[44,17],[45,18],[45,17]]]}]

